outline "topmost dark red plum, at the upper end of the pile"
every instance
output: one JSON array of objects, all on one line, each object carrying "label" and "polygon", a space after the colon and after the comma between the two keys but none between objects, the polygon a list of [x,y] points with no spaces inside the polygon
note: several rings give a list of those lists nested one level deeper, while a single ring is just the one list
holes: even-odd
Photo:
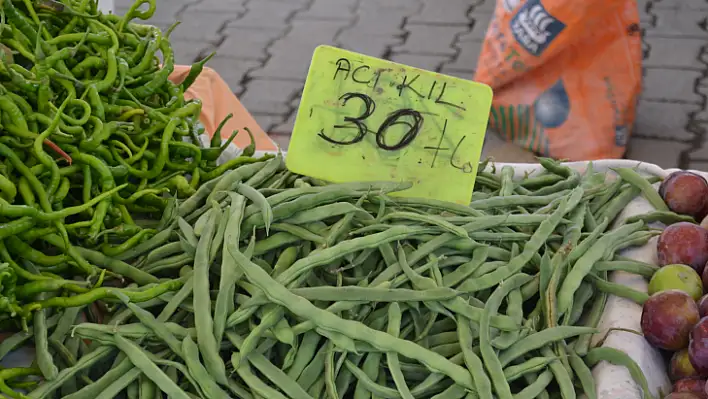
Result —
[{"label": "topmost dark red plum, at the upper end of the pile", "polygon": [[708,203],[708,182],[693,172],[674,172],[661,183],[659,195],[672,211],[700,217]]}]

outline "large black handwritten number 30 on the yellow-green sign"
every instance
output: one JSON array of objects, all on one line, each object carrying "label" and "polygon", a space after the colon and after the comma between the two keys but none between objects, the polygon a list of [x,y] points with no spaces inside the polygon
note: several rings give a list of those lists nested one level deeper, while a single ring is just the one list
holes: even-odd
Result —
[{"label": "large black handwritten number 30 on the yellow-green sign", "polygon": [[[323,138],[325,141],[332,143],[332,144],[337,144],[337,145],[351,145],[351,144],[356,144],[362,140],[364,140],[364,137],[366,136],[366,133],[369,132],[369,128],[366,126],[366,123],[364,121],[373,115],[374,111],[376,110],[376,103],[374,100],[367,96],[366,94],[361,94],[361,93],[346,93],[342,95],[339,100],[343,102],[343,105],[347,105],[347,102],[351,100],[352,98],[358,98],[364,103],[364,106],[366,109],[364,112],[356,117],[352,118],[350,116],[347,116],[344,118],[345,122],[353,123],[356,125],[357,129],[359,132],[357,135],[348,141],[340,141],[340,140],[335,140],[329,136],[327,136],[324,133],[324,129],[318,134],[321,138]],[[405,120],[401,120],[404,117],[410,117],[413,119],[412,122],[408,122]],[[388,129],[392,126],[395,125],[407,125],[408,126],[408,131],[406,134],[401,137],[400,140],[398,140],[398,143],[394,145],[388,145],[386,143],[386,132]],[[391,115],[389,115],[386,120],[383,121],[381,126],[379,127],[379,130],[376,132],[376,145],[379,146],[379,148],[386,150],[386,151],[396,151],[400,150],[402,148],[405,148],[408,146],[417,136],[418,133],[420,133],[420,129],[423,127],[423,115],[421,115],[420,112],[412,110],[412,109],[401,109],[396,112],[393,112]],[[351,128],[351,125],[335,125],[335,129],[347,129]]]}]

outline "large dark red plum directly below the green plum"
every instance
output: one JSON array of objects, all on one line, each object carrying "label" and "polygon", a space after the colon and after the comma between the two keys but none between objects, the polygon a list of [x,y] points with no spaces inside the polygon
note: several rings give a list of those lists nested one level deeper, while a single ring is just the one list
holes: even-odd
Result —
[{"label": "large dark red plum directly below the green plum", "polygon": [[668,290],[647,299],[642,309],[641,326],[644,338],[650,344],[677,351],[688,345],[691,329],[699,320],[698,305],[690,295]]}]

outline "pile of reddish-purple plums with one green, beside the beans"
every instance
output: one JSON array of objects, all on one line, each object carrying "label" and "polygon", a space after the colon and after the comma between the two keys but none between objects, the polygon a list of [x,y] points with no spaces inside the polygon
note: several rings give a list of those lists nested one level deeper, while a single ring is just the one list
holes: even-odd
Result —
[{"label": "pile of reddish-purple plums with one green, beside the beans", "polygon": [[659,194],[671,211],[696,223],[672,224],[659,237],[661,269],[650,282],[642,332],[651,345],[673,352],[673,392],[666,398],[708,399],[708,295],[703,295],[708,292],[708,182],[695,173],[675,172]]}]

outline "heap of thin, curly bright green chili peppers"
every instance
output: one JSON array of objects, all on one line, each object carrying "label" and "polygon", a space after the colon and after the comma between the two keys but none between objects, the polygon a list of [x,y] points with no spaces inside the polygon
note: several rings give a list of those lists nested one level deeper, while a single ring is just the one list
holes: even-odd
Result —
[{"label": "heap of thin, curly bright green chili peppers", "polygon": [[[217,165],[236,133],[225,143],[220,131],[208,145],[199,139],[201,103],[184,92],[210,57],[183,82],[168,79],[172,28],[132,22],[150,18],[156,0],[122,17],[101,14],[97,0],[0,4],[0,262],[25,293],[25,285],[53,296],[87,292],[67,281],[74,276],[90,285],[156,282],[106,256],[154,236],[170,197],[258,161],[252,144]],[[31,302],[0,298],[0,323],[26,323]]]}]

